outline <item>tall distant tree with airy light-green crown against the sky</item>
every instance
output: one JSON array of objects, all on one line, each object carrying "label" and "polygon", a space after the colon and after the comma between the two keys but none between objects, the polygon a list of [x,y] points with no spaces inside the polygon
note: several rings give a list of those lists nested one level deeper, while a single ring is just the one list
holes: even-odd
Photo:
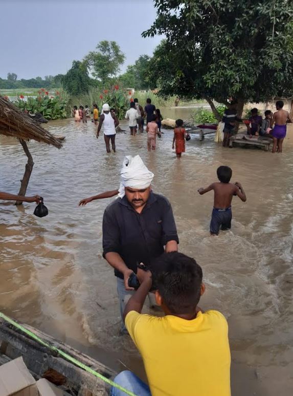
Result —
[{"label": "tall distant tree with airy light-green crown against the sky", "polygon": [[96,47],[96,51],[89,52],[84,63],[94,77],[102,81],[103,86],[108,78],[116,76],[123,64],[125,55],[121,52],[116,41],[103,40]]}]

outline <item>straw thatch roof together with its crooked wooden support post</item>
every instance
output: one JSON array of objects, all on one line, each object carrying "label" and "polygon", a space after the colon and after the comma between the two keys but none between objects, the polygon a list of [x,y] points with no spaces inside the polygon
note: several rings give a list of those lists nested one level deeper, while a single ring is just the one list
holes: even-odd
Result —
[{"label": "straw thatch roof together with its crooked wooden support post", "polygon": [[[20,190],[18,192],[18,196],[25,196],[34,166],[33,157],[26,141],[33,139],[39,142],[52,144],[58,149],[62,147],[62,143],[58,138],[42,128],[39,122],[34,121],[28,114],[18,109],[18,107],[14,106],[9,100],[6,100],[2,96],[0,96],[0,134],[19,139],[28,157],[26,171],[21,180]],[[22,202],[17,201],[16,203],[21,204]]]}]

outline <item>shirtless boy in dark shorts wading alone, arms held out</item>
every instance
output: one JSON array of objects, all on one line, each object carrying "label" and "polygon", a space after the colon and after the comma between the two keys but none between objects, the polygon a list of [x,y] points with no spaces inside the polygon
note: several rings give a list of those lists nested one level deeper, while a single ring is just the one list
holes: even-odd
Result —
[{"label": "shirtless boy in dark shorts wading alone, arms held out", "polygon": [[229,166],[219,166],[217,176],[220,182],[212,183],[206,189],[200,188],[197,191],[200,195],[214,190],[214,208],[210,225],[211,235],[218,235],[221,230],[230,230],[232,220],[231,202],[233,195],[245,202],[246,195],[240,183],[230,183],[232,169]]}]

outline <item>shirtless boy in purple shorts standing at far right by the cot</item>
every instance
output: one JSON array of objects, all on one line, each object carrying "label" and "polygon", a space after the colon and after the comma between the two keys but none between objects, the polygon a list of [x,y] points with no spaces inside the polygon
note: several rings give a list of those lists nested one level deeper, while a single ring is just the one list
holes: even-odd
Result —
[{"label": "shirtless boy in purple shorts standing at far right by the cot", "polygon": [[276,153],[277,147],[279,153],[282,153],[283,140],[286,136],[287,122],[293,122],[289,113],[283,110],[284,102],[283,100],[278,100],[276,102],[276,113],[274,113],[272,120],[272,127],[275,124],[272,135],[274,138],[274,145],[272,153]]}]

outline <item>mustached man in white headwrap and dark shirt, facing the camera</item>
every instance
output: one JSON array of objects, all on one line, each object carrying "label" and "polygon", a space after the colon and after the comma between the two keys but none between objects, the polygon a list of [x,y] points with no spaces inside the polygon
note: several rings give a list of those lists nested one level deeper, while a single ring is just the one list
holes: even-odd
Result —
[{"label": "mustached man in white headwrap and dark shirt, facing the camera", "polygon": [[179,243],[169,201],[151,191],[153,177],[139,155],[126,156],[118,199],[104,212],[103,257],[114,267],[121,317],[134,293],[128,282],[137,266],[177,251]]}]

